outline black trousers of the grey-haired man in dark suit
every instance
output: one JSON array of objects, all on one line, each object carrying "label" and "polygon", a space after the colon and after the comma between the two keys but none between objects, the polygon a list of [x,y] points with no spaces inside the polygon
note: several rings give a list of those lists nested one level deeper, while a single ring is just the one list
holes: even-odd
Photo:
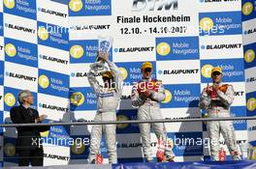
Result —
[{"label": "black trousers of the grey-haired man in dark suit", "polygon": [[18,151],[18,166],[43,166],[44,152],[43,149]]}]

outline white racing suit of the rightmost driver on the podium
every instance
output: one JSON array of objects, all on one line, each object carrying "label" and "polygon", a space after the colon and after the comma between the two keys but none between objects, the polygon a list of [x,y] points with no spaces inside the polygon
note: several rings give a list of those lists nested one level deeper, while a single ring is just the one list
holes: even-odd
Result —
[{"label": "white racing suit of the rightmost driver on the podium", "polygon": [[[222,84],[219,84],[222,86]],[[230,105],[235,97],[234,88],[227,85],[226,92],[217,91],[217,99],[211,100],[207,94],[207,88],[202,92],[200,98],[200,108],[208,110],[208,118],[231,117]],[[219,160],[219,135],[223,135],[225,143],[228,146],[230,154],[233,159],[238,160],[240,156],[237,150],[237,141],[235,137],[234,127],[232,121],[209,121],[208,122],[208,137],[210,141],[210,155],[213,160]]]}]

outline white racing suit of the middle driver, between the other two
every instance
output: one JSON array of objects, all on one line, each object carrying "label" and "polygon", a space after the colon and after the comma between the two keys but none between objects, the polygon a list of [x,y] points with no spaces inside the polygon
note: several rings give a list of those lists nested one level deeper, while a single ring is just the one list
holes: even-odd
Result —
[{"label": "white racing suit of the middle driver, between the other two", "polygon": [[[143,80],[143,82],[150,82],[149,80]],[[156,80],[157,81],[157,80]],[[159,81],[158,81],[159,82]],[[145,99],[142,95],[137,91],[137,86],[133,87],[132,90],[132,105],[135,107],[139,106],[138,109],[138,120],[158,120],[163,119],[160,110],[160,101],[163,101],[166,98],[165,89],[162,83],[160,83],[157,92],[154,91],[151,95],[150,99]],[[144,157],[147,161],[152,161],[152,151],[151,151],[151,141],[150,141],[150,124],[140,124],[139,125],[141,134],[142,134],[142,142],[143,142],[143,151]],[[168,138],[166,134],[166,128],[163,123],[153,123],[152,128],[156,134],[157,139],[163,139],[166,143],[168,143]],[[165,147],[165,156],[166,159],[173,159],[175,154],[172,151],[172,147],[166,145]]]}]

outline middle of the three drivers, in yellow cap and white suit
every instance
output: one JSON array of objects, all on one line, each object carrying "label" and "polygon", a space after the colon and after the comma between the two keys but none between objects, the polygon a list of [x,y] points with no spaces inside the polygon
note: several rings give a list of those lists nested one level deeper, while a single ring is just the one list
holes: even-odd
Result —
[{"label": "middle of the three drivers, in yellow cap and white suit", "polygon": [[[144,62],[142,66],[143,79],[134,85],[132,90],[132,105],[139,107],[138,120],[157,120],[163,119],[160,111],[160,101],[163,101],[165,89],[160,80],[152,79],[153,66],[150,62]],[[144,157],[148,162],[153,160],[150,145],[150,124],[140,124],[142,133]],[[175,155],[171,146],[167,146],[167,135],[163,123],[152,124],[158,142],[162,142],[164,147],[162,151],[158,149],[158,161],[173,161]]]}]

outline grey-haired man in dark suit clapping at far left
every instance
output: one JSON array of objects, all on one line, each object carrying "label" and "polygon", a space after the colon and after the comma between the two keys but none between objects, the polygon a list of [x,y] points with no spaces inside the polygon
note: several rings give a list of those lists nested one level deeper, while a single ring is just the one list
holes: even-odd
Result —
[{"label": "grey-haired man in dark suit clapping at far left", "polygon": [[[27,90],[18,94],[19,106],[10,110],[11,119],[14,124],[34,124],[41,123],[46,115],[39,116],[37,110],[30,106],[34,103],[34,98]],[[18,165],[43,166],[43,147],[39,146],[40,132],[47,131],[49,127],[16,127],[16,152],[18,154]]]}]

